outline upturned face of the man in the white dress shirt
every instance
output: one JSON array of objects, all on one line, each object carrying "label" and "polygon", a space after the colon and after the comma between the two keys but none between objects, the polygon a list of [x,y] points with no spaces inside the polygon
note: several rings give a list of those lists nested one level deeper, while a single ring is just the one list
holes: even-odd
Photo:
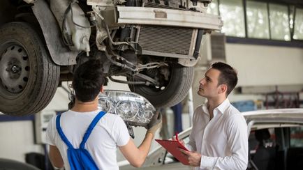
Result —
[{"label": "upturned face of the man in the white dress shirt", "polygon": [[214,68],[209,68],[205,73],[205,77],[200,80],[198,95],[205,98],[214,98],[219,94],[218,80],[220,71]]}]

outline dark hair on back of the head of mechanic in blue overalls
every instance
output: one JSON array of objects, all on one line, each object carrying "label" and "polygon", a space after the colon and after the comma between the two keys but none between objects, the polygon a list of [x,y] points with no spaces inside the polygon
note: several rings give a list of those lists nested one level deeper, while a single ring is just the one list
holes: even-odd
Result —
[{"label": "dark hair on back of the head of mechanic in blue overalls", "polygon": [[100,60],[91,59],[82,63],[73,75],[75,97],[81,102],[93,101],[104,83]]}]

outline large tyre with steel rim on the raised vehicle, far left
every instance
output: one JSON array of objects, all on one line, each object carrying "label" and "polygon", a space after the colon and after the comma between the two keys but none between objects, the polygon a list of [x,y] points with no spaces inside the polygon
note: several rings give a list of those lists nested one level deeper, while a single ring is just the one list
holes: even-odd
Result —
[{"label": "large tyre with steel rim on the raised vehicle, far left", "polygon": [[60,68],[45,43],[27,23],[0,28],[0,111],[13,116],[34,114],[48,105],[59,84]]}]

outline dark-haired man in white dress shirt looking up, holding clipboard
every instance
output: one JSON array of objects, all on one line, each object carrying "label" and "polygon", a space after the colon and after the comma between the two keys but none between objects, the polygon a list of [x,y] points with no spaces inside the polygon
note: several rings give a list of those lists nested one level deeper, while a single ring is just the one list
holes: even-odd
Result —
[{"label": "dark-haired man in white dress shirt looking up, holding clipboard", "polygon": [[198,95],[207,103],[195,109],[193,130],[186,148],[189,164],[196,169],[246,169],[247,125],[244,116],[227,98],[237,85],[237,72],[226,63],[213,63],[200,80]]}]

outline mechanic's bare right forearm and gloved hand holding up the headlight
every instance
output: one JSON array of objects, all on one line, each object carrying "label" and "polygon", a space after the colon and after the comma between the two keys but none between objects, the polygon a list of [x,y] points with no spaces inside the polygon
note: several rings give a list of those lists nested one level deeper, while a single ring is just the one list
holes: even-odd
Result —
[{"label": "mechanic's bare right forearm and gloved hand holding up the headlight", "polygon": [[151,141],[154,138],[154,133],[162,125],[162,116],[157,111],[154,117],[151,119],[149,125],[147,125],[147,132],[145,139],[142,141],[140,146],[135,146],[133,139],[130,139],[125,146],[119,146],[121,153],[124,155],[126,160],[131,163],[133,167],[141,167],[144,164],[147,154],[151,146]]}]

